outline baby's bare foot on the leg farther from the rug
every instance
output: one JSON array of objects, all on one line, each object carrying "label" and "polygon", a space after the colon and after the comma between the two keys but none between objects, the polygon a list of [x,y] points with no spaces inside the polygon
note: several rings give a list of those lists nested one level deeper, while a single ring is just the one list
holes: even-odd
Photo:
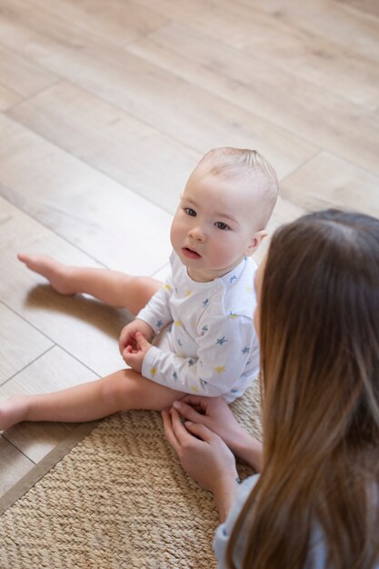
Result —
[{"label": "baby's bare foot on the leg farther from the rug", "polygon": [[75,294],[75,288],[70,283],[72,276],[72,267],[58,263],[48,255],[25,255],[19,253],[18,259],[25,265],[38,273],[45,276],[56,292],[60,294]]}]

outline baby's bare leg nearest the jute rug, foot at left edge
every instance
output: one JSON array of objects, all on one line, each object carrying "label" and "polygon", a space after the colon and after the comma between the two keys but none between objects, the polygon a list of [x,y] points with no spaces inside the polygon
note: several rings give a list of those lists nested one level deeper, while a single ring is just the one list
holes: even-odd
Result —
[{"label": "baby's bare leg nearest the jute rug, foot at left edge", "polygon": [[53,394],[12,397],[0,403],[0,430],[21,421],[83,423],[128,409],[161,411],[184,395],[125,369]]}]

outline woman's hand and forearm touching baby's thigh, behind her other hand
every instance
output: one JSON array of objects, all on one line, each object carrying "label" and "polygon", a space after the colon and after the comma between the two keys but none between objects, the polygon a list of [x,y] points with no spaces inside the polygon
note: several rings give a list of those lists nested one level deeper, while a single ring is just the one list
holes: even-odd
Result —
[{"label": "woman's hand and forearm touching baby's thigh, behind her other hand", "polygon": [[186,395],[181,401],[175,401],[174,407],[188,421],[204,424],[218,434],[233,454],[255,471],[262,471],[262,443],[238,423],[222,397]]}]

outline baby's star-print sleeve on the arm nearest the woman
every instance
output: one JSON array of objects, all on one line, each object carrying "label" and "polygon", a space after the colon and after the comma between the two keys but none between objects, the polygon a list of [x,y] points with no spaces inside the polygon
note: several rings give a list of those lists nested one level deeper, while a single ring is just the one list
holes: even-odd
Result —
[{"label": "baby's star-print sleeve on the arm nearest the woman", "polygon": [[233,393],[249,360],[256,360],[257,372],[258,351],[254,350],[253,339],[251,318],[235,314],[214,317],[214,321],[208,318],[208,330],[196,340],[197,357],[181,357],[150,346],[145,351],[141,373],[158,384],[188,394]]}]

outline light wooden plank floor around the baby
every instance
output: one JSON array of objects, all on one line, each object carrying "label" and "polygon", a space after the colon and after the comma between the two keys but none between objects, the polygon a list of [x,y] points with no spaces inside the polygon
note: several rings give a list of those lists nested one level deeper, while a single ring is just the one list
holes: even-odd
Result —
[{"label": "light wooden plank floor around the baby", "polygon": [[[0,0],[0,111],[3,397],[122,367],[128,317],[60,297],[16,253],[164,277],[179,192],[211,147],[272,162],[271,230],[331,205],[379,216],[379,4]],[[0,435],[0,494],[71,428]]]}]

